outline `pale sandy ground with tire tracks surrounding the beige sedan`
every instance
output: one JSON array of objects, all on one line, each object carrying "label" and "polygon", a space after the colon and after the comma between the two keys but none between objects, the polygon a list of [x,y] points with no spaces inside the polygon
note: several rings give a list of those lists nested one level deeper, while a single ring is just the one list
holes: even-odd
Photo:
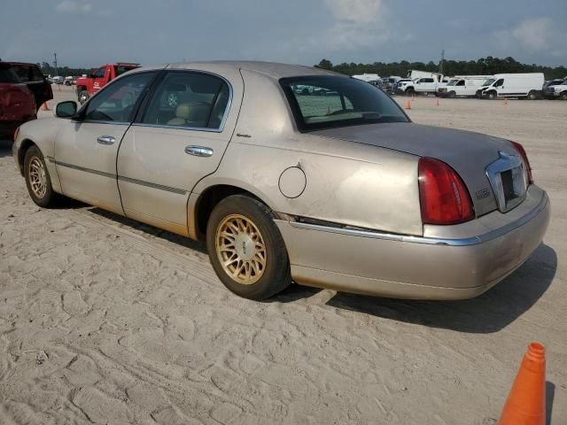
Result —
[{"label": "pale sandy ground with tire tracks surrounding the beige sedan", "polygon": [[524,143],[548,189],[545,243],[481,297],[237,298],[202,244],[38,208],[0,141],[0,423],[489,425],[532,340],[548,423],[567,423],[567,103],[418,98],[409,113]]}]

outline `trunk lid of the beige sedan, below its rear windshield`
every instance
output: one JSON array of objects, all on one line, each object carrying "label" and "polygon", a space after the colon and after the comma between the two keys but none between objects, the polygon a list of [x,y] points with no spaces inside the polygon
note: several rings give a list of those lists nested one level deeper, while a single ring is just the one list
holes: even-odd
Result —
[{"label": "trunk lid of the beige sedan, below its rear windshield", "polygon": [[[312,134],[370,144],[419,157],[437,158],[453,167],[461,176],[467,189],[469,189],[477,216],[490,213],[498,208],[505,212],[512,207],[512,204],[515,206],[522,200],[521,196],[516,197],[507,208],[506,205],[499,204],[494,195],[498,193],[501,197],[501,192],[509,188],[498,187],[498,182],[491,182],[487,175],[487,168],[498,161],[505,163],[507,159],[502,158],[502,155],[513,158],[519,156],[511,143],[497,137],[414,123],[384,123],[329,128],[314,131]],[[505,166],[495,168],[500,170],[497,171],[500,173]],[[505,186],[508,185],[506,178],[503,181]],[[499,182],[502,183],[502,181]]]}]

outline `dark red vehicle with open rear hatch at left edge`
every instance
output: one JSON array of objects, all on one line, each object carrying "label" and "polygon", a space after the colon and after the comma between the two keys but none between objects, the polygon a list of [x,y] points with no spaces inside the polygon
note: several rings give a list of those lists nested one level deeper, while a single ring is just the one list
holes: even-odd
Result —
[{"label": "dark red vehicle with open rear hatch at left edge", "polygon": [[50,83],[35,64],[0,62],[0,136],[37,118],[37,110],[53,98]]}]

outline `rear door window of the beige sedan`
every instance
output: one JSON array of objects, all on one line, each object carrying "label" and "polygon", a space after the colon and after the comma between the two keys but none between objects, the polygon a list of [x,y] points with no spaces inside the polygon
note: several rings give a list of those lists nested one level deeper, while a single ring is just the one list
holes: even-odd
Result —
[{"label": "rear door window of the beige sedan", "polygon": [[221,128],[229,104],[229,85],[198,72],[171,72],[151,97],[142,122],[183,128]]}]

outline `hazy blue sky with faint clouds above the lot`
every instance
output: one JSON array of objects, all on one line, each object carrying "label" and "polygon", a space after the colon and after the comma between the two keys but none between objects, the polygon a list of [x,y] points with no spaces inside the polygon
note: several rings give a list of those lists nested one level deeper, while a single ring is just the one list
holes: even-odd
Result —
[{"label": "hazy blue sky with faint clouds above the lot", "polygon": [[0,0],[0,58],[61,66],[511,56],[567,66],[567,0]]}]

